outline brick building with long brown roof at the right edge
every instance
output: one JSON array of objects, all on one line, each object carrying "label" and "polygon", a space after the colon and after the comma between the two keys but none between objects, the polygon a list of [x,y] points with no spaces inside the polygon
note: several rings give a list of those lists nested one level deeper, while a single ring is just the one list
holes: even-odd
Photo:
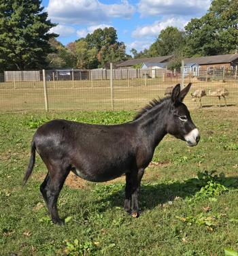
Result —
[{"label": "brick building with long brown roof at the right edge", "polygon": [[184,59],[184,64],[196,63],[200,70],[207,69],[235,69],[238,65],[238,54],[223,54],[216,56],[194,57]]}]

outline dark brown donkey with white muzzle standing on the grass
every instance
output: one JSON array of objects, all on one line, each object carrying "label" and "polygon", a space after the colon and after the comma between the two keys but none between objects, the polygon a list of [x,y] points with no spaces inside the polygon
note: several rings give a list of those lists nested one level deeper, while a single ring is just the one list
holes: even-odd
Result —
[{"label": "dark brown donkey with white muzzle standing on the grass", "polygon": [[52,221],[63,224],[58,216],[57,199],[70,171],[85,180],[103,182],[125,174],[124,210],[139,217],[138,193],[144,170],[154,149],[169,133],[196,146],[200,135],[182,103],[191,83],[180,91],[177,84],[171,97],[154,99],[121,125],[90,125],[53,120],[41,125],[33,135],[31,157],[24,175],[27,182],[35,163],[35,150],[48,173],[40,186]]}]

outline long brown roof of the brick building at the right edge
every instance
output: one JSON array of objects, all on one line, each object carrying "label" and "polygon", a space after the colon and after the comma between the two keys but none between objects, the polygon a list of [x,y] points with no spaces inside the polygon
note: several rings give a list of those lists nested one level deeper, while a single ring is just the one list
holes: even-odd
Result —
[{"label": "long brown roof of the brick building at the right edge", "polygon": [[231,63],[238,59],[238,54],[223,54],[216,56],[206,56],[206,57],[195,57],[195,58],[186,58],[184,63],[197,63],[199,65],[206,64],[217,64],[217,63]]}]

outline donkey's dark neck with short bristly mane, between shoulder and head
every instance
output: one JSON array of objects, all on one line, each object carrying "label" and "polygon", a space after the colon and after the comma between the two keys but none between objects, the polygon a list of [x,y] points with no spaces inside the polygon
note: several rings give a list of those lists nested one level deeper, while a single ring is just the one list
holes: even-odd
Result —
[{"label": "donkey's dark neck with short bristly mane, between shoulder and head", "polygon": [[168,112],[169,104],[167,101],[164,101],[143,114],[137,120],[139,131],[145,135],[146,140],[148,140],[154,148],[167,134]]}]

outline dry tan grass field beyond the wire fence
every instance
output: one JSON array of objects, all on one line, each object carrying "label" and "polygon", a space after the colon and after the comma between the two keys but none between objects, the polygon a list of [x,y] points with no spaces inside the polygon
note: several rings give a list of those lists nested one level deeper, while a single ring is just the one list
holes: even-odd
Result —
[{"label": "dry tan grass field beyond the wire fence", "polygon": [[[186,79],[184,84],[190,80]],[[114,80],[114,110],[135,110],[148,103],[154,97],[163,97],[167,86],[179,83],[180,80],[158,79]],[[237,105],[238,84],[228,82],[201,82],[192,79],[192,91],[205,89],[207,96],[203,97],[204,106],[218,106],[218,98],[208,95],[209,89],[215,91],[225,87],[229,91],[227,103]],[[81,80],[47,82],[49,110],[112,110],[112,97],[109,80]],[[198,103],[186,97],[186,103],[192,109],[198,108]],[[224,99],[222,99],[224,104]],[[44,110],[43,82],[13,82],[0,83],[0,110]]]}]

